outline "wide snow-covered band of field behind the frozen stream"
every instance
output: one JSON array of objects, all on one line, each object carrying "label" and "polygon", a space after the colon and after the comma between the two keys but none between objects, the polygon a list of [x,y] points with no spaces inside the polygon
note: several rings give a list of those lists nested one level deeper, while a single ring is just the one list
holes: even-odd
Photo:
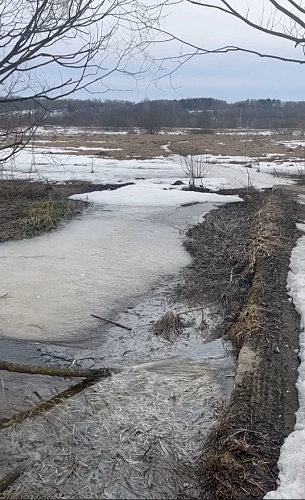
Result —
[{"label": "wide snow-covered band of field behind the frozen stream", "polygon": [[[76,154],[75,151],[82,152],[82,154]],[[75,148],[75,151],[71,148],[38,147],[33,153],[31,148],[26,148],[17,155],[14,161],[0,169],[0,178],[47,179],[49,181],[82,179],[96,183],[135,182],[138,186],[134,188],[136,195],[138,190],[144,192],[149,187],[156,188],[157,185],[180,191],[181,186],[169,185],[176,180],[181,180],[185,184],[189,181],[178,155],[166,158],[159,156],[150,160],[134,158],[119,161],[97,158],[84,147]],[[207,155],[206,161],[208,172],[204,178],[196,179],[196,184],[211,190],[247,186],[266,188],[274,184],[289,184],[292,180],[287,176],[302,174],[303,170],[305,171],[303,164],[295,158],[281,162],[272,158],[257,161],[251,158],[245,159],[242,156]],[[251,167],[245,167],[245,161],[248,165],[251,163]],[[193,195],[189,193],[188,196],[190,202],[194,201]],[[164,192],[162,198],[173,198],[173,194],[170,191]],[[158,201],[161,201],[161,196],[158,197]],[[182,203],[186,201],[186,195],[184,195]],[[158,205],[157,200],[156,204]],[[167,204],[171,203],[162,202],[162,205]]]}]

